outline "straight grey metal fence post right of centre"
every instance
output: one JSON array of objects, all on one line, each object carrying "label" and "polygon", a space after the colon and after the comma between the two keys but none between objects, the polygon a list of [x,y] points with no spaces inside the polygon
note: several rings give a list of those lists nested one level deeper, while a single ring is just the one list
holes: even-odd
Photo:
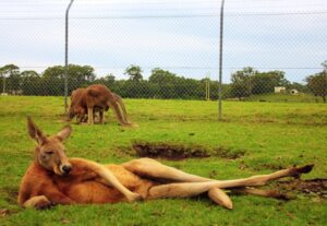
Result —
[{"label": "straight grey metal fence post right of centre", "polygon": [[219,44],[219,88],[218,88],[218,120],[222,119],[222,35],[223,35],[223,4],[225,0],[221,0],[220,8],[220,44]]}]

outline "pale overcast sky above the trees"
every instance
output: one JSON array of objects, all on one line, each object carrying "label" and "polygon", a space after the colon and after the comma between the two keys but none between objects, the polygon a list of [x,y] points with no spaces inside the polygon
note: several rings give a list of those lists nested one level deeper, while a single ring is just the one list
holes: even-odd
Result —
[{"label": "pale overcast sky above the trees", "polygon": [[[0,0],[0,66],[43,72],[64,63],[69,0]],[[218,78],[220,1],[75,0],[70,13],[70,63],[98,76],[137,64],[186,78]],[[327,60],[327,1],[226,0],[223,81],[243,67],[282,70],[290,81]]]}]

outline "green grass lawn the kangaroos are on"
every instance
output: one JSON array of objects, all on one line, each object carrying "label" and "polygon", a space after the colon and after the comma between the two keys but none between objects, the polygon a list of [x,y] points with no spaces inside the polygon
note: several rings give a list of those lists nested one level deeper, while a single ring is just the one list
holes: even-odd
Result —
[{"label": "green grass lawn the kangaroos are on", "polygon": [[[305,179],[327,177],[327,105],[304,103],[217,103],[201,100],[125,99],[130,119],[140,128],[119,127],[113,114],[108,123],[77,126],[65,142],[66,154],[99,163],[135,158],[135,141],[222,146],[245,155],[167,160],[164,163],[216,179],[266,174],[280,167],[315,164]],[[299,194],[279,201],[232,195],[233,210],[205,197],[105,205],[55,206],[23,210],[16,204],[20,180],[33,160],[34,141],[26,133],[32,116],[47,133],[64,124],[62,97],[0,97],[0,225],[327,225],[327,201]]]}]

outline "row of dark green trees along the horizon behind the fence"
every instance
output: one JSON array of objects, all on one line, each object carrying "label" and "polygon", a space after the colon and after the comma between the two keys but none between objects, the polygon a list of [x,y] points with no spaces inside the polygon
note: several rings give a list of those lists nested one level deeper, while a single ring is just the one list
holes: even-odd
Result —
[{"label": "row of dark green trees along the horizon behind the fence", "polygon": [[[306,84],[290,83],[283,71],[259,72],[253,68],[244,68],[231,75],[230,84],[222,84],[223,98],[243,98],[251,95],[274,93],[276,86],[288,90],[295,88],[303,93],[327,96],[327,61],[324,70],[306,78]],[[143,71],[138,66],[130,66],[124,73],[126,80],[117,80],[113,74],[98,78],[90,66],[70,64],[68,68],[69,94],[77,87],[90,84],[104,84],[112,92],[129,98],[181,98],[204,99],[210,86],[209,96],[218,98],[218,81],[209,79],[195,80],[177,75],[168,70],[155,68],[148,80],[143,79]],[[2,93],[35,96],[62,96],[64,93],[65,68],[55,66],[43,73],[33,70],[22,71],[15,64],[0,68],[0,87]]]}]

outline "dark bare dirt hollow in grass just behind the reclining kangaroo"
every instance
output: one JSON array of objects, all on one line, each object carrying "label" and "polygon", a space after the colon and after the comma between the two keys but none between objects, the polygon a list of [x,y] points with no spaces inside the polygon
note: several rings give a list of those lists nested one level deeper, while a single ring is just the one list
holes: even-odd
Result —
[{"label": "dark bare dirt hollow in grass just behind the reclining kangaroo", "polygon": [[210,156],[234,159],[245,154],[245,151],[222,146],[209,148],[202,145],[182,145],[164,142],[149,143],[137,141],[132,144],[132,147],[140,157],[161,157],[168,159],[204,158]]}]

